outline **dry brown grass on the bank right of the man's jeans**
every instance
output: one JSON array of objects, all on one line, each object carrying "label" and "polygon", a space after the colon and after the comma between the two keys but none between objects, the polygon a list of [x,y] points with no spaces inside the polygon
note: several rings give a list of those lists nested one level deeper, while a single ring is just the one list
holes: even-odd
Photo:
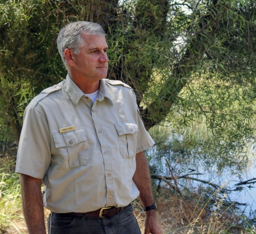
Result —
[{"label": "dry brown grass on the bank right of the man's jeans", "polygon": [[[234,204],[225,204],[226,194],[222,188],[208,196],[202,189],[182,190],[182,197],[166,186],[155,194],[158,218],[164,234],[190,233],[232,233],[256,234],[248,218],[239,212]],[[141,231],[144,231],[145,212],[139,201],[135,201],[134,214]]]}]

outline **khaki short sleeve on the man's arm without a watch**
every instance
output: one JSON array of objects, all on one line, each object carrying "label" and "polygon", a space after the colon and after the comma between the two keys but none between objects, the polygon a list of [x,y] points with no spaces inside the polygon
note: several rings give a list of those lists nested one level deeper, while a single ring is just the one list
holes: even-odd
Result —
[{"label": "khaki short sleeve on the man's arm without a watch", "polygon": [[51,141],[46,119],[28,105],[23,118],[15,172],[43,179],[51,163]]}]

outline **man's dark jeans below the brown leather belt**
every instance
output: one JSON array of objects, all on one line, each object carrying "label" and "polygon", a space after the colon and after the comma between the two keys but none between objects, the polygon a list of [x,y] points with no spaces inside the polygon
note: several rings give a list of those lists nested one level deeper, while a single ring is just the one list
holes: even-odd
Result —
[{"label": "man's dark jeans below the brown leather belt", "polygon": [[60,217],[51,213],[47,220],[49,234],[141,234],[132,205],[108,218]]}]

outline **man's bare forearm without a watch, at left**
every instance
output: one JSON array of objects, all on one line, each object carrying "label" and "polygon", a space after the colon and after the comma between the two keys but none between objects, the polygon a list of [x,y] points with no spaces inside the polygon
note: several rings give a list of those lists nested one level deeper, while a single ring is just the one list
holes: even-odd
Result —
[{"label": "man's bare forearm without a watch, at left", "polygon": [[22,206],[30,234],[45,234],[42,179],[20,174]]}]

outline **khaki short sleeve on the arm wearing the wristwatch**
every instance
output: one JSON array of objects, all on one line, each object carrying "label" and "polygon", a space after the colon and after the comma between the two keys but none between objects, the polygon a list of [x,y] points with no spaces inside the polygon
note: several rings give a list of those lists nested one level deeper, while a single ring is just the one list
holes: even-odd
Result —
[{"label": "khaki short sleeve on the arm wearing the wristwatch", "polygon": [[137,134],[136,154],[142,151],[146,151],[146,149],[152,147],[155,144],[154,140],[150,137],[149,133],[145,129],[139,111],[137,111],[137,119],[139,132]]}]

